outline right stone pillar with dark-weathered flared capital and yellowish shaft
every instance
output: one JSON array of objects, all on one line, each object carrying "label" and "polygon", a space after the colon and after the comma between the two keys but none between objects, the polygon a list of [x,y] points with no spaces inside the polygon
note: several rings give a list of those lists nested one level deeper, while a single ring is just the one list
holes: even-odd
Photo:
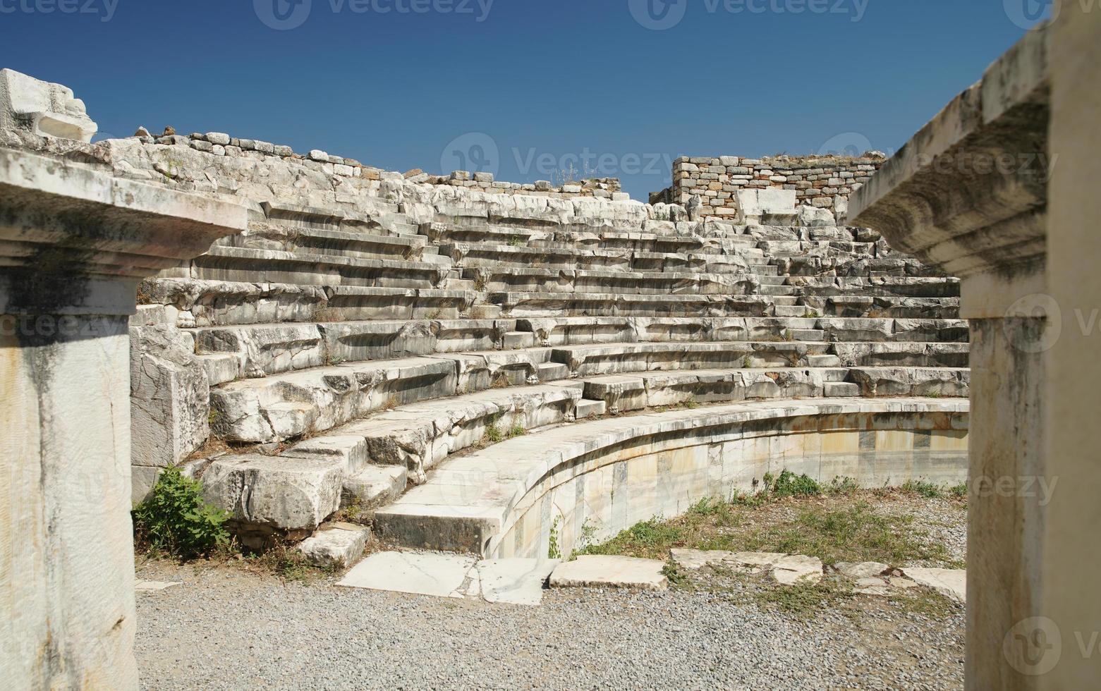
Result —
[{"label": "right stone pillar with dark-weathered flared capital and yellowish shaft", "polygon": [[853,224],[961,278],[972,346],[967,687],[975,691],[1056,688],[1033,673],[1034,656],[1015,636],[1045,611],[1047,490],[1061,489],[1045,453],[1045,351],[1057,336],[1049,34],[1046,25],[1029,32],[850,206]]}]

